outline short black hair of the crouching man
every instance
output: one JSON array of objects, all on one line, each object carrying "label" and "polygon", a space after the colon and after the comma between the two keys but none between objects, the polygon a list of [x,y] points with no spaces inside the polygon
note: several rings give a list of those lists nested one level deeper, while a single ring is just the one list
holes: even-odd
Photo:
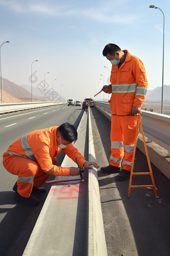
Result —
[{"label": "short black hair of the crouching man", "polygon": [[77,130],[75,129],[74,125],[68,122],[63,123],[58,127],[58,131],[60,131],[64,140],[70,141],[70,142],[76,142]]}]

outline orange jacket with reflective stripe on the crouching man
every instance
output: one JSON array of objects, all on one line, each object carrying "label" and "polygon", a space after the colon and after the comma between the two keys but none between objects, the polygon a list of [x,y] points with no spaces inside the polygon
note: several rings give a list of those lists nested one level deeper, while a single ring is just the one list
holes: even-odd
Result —
[{"label": "orange jacket with reflective stripe on the crouching man", "polygon": [[59,154],[61,150],[75,163],[77,157],[80,166],[83,166],[86,161],[72,143],[62,149],[57,146],[56,131],[58,127],[52,126],[30,132],[12,143],[7,152],[11,155],[28,157],[37,161],[44,172],[52,170],[56,176],[68,176],[70,174],[69,167],[63,168],[52,164],[52,158]]}]

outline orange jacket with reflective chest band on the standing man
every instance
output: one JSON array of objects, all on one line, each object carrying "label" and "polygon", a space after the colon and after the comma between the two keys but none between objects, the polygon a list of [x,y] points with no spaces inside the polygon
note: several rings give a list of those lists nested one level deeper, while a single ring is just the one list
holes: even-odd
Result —
[{"label": "orange jacket with reflective chest band on the standing man", "polygon": [[[127,51],[127,50],[123,50]],[[111,113],[114,115],[132,114],[132,106],[139,109],[145,100],[148,80],[142,61],[127,51],[125,61],[120,68],[112,65],[110,100]]]}]

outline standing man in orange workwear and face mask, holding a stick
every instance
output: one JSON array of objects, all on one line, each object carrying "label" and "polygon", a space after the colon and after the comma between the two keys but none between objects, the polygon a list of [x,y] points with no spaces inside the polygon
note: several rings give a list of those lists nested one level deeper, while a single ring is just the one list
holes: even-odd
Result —
[{"label": "standing man in orange workwear and face mask, holding a stick", "polygon": [[[111,110],[111,156],[110,165],[102,167],[104,173],[119,173],[116,179],[130,177],[135,143],[137,116],[145,100],[148,81],[142,61],[115,44],[103,49],[112,63],[111,84],[103,86],[104,92],[112,93],[108,101]],[[124,157],[124,158],[123,158]],[[123,161],[122,161],[123,159]],[[122,164],[122,169],[121,169]]]}]

